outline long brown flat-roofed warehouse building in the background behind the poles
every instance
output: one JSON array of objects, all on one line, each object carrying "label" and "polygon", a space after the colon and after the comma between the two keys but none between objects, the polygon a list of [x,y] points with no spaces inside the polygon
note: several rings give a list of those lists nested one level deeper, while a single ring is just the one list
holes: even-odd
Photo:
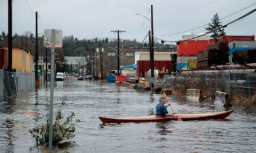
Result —
[{"label": "long brown flat-roofed warehouse building in the background behind the poles", "polygon": [[[102,70],[106,77],[112,70],[117,70],[117,48],[102,48]],[[175,48],[154,48],[154,58],[163,58],[162,55],[167,56],[171,61],[171,54],[176,54]],[[119,65],[134,65],[137,61],[150,60],[149,48],[119,48]],[[100,74],[100,52],[91,54],[89,61],[91,61],[91,72],[94,75]]]}]

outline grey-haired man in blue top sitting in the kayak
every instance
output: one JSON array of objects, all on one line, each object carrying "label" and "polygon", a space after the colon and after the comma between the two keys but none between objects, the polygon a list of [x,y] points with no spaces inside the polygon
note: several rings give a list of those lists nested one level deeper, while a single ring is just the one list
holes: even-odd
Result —
[{"label": "grey-haired man in blue top sitting in the kayak", "polygon": [[171,105],[170,103],[165,106],[165,103],[167,103],[167,99],[165,97],[160,97],[159,103],[156,105],[156,116],[173,116],[173,114],[169,114],[167,111],[167,107]]}]

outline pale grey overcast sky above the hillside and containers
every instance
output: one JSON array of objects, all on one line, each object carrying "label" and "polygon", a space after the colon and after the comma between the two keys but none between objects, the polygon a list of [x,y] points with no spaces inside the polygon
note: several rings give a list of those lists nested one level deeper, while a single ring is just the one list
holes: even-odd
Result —
[{"label": "pale grey overcast sky above the hillside and containers", "polygon": [[[40,16],[39,33],[43,29],[62,29],[63,35],[79,39],[116,37],[111,30],[123,30],[123,39],[142,41],[150,30],[150,5],[154,5],[154,35],[179,33],[211,22],[218,13],[223,18],[256,3],[255,0],[13,0],[13,33],[35,33],[35,11]],[[29,8],[29,6],[31,8]],[[223,24],[255,9],[256,5],[223,19]],[[147,14],[148,13],[148,14]],[[0,31],[8,31],[8,0],[0,0]],[[143,24],[144,23],[144,24]],[[143,25],[143,27],[142,27]],[[142,27],[142,29],[141,29]],[[256,35],[256,12],[229,25],[227,35]],[[140,31],[141,29],[141,31]],[[205,29],[190,31],[205,33]],[[158,36],[171,41],[182,34]]]}]

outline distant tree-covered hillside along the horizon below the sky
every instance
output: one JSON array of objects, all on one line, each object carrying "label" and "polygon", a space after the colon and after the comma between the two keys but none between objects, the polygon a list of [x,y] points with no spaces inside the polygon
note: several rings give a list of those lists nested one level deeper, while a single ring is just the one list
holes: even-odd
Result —
[{"label": "distant tree-covered hillside along the horizon below the sky", "polygon": [[[8,46],[8,34],[2,32],[0,34],[0,46]],[[42,35],[38,36],[38,54],[44,56],[45,48],[43,46],[43,37]],[[23,35],[15,34],[13,36],[14,47],[25,48],[30,51],[32,54],[35,54],[35,35],[31,32],[26,32]],[[110,38],[92,38],[92,39],[78,39],[73,35],[63,37],[63,48],[56,50],[61,56],[85,56],[88,52],[91,52],[95,48],[98,48],[98,45],[101,44],[104,48],[115,48],[117,47],[117,39]],[[156,41],[156,48],[173,48],[169,44],[160,44]],[[135,39],[121,39],[120,48],[148,48],[147,42],[141,44],[141,42],[136,41]]]}]

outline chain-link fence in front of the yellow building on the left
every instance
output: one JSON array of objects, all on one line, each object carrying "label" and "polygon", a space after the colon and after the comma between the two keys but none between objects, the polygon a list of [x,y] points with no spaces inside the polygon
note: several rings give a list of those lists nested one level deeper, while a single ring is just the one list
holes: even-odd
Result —
[{"label": "chain-link fence in front of the yellow building on the left", "polygon": [[35,74],[9,72],[0,69],[0,100],[16,95],[19,92],[35,90]]}]

